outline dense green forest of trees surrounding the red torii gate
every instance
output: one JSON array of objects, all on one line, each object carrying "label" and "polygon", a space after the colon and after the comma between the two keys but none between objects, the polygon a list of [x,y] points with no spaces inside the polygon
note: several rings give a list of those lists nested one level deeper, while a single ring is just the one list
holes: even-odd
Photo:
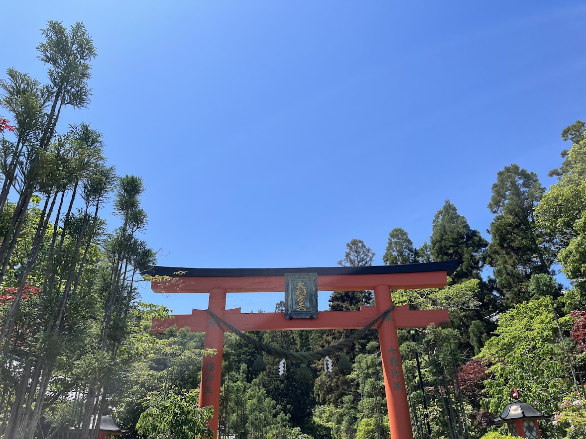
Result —
[{"label": "dense green forest of trees surrounding the red torii gate", "polygon": [[[213,352],[203,350],[204,334],[152,333],[152,318],[169,310],[138,293],[141,271],[156,263],[142,180],[116,174],[90,124],[59,124],[64,109],[90,103],[96,49],[83,23],[50,21],[42,38],[46,81],[13,68],[0,80],[0,437],[97,438],[98,414],[128,438],[206,437],[210,409],[196,404],[202,356]],[[586,124],[561,136],[568,149],[551,164],[550,188],[517,164],[495,176],[490,241],[449,200],[430,218],[428,242],[415,246],[389,227],[387,265],[461,261],[445,288],[392,293],[397,305],[451,317],[449,327],[399,332],[417,438],[499,438],[506,427],[492,419],[512,387],[554,416],[541,423],[543,437],[586,437]],[[346,246],[339,265],[372,264],[363,241]],[[329,307],[372,301],[372,291],[334,291]],[[349,332],[249,335],[308,351]],[[296,363],[280,376],[277,358],[254,373],[251,345],[231,333],[224,344],[221,435],[389,437],[375,330],[347,349],[349,373],[315,362],[309,382],[295,379]]]}]

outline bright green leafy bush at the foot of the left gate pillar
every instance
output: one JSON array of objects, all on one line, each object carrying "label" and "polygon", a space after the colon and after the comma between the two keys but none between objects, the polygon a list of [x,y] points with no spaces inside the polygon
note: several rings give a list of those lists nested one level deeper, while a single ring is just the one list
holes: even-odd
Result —
[{"label": "bright green leafy bush at the foot of the left gate pillar", "polygon": [[138,433],[148,439],[212,438],[207,420],[213,416],[213,407],[199,407],[198,395],[152,395],[152,404],[137,423]]}]

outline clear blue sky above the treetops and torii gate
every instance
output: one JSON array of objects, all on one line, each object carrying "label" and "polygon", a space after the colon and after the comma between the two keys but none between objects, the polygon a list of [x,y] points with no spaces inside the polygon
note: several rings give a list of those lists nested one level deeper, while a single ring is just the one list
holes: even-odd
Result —
[{"label": "clear blue sky above the treetops and torii gate", "polygon": [[498,170],[549,186],[586,118],[584,1],[21,0],[2,6],[2,71],[44,80],[49,19],[83,21],[99,54],[90,107],[58,129],[90,122],[144,178],[159,265],[333,266],[352,238],[381,264],[389,231],[421,245],[445,198],[486,236]]}]

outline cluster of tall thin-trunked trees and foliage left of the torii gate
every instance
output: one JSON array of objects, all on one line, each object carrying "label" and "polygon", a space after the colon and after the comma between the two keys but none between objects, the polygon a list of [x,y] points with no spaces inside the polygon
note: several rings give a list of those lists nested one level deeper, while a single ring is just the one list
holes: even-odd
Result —
[{"label": "cluster of tall thin-trunked trees and foliage left of the torii gate", "polygon": [[[123,224],[107,235],[99,214],[117,177],[105,165],[102,135],[84,123],[56,131],[64,108],[90,102],[91,37],[83,23],[66,28],[54,20],[42,33],[48,83],[14,69],[0,80],[0,105],[17,125],[15,141],[3,136],[0,144],[0,260],[7,268],[0,284],[16,290],[0,306],[0,342],[11,358],[0,369],[0,406],[15,409],[0,414],[0,435],[18,439],[38,435],[42,416],[49,437],[69,434],[67,424],[81,424],[88,437],[93,413],[125,406],[127,391],[140,387],[138,371],[150,378],[145,388],[156,387],[156,373],[139,359],[161,348],[145,331],[151,317],[167,314],[138,304],[139,271],[155,262],[137,236],[147,224],[141,180],[120,180],[114,211]],[[31,287],[40,294],[22,294]]]}]

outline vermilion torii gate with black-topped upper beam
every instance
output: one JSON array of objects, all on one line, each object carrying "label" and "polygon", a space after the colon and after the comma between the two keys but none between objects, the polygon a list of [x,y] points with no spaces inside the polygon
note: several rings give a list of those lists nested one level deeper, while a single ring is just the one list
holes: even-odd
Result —
[{"label": "vermilion torii gate with black-topped upper beam", "polygon": [[[156,266],[144,274],[173,278],[151,282],[155,293],[209,293],[209,310],[240,331],[325,330],[363,328],[393,305],[391,290],[444,287],[447,275],[457,266],[456,260],[370,267],[207,269]],[[284,318],[282,313],[242,314],[240,308],[226,309],[226,293],[283,291],[285,273],[309,272],[318,274],[318,291],[374,290],[376,306],[363,306],[360,311],[321,311],[317,318],[292,320]],[[397,328],[425,328],[431,323],[444,322],[449,322],[447,310],[410,310],[408,306],[399,306],[377,328],[393,439],[413,439]],[[217,439],[224,333],[205,310],[195,309],[192,314],[155,321],[153,331],[163,332],[172,325],[205,332],[204,347],[216,349],[216,355],[203,359],[199,405],[214,407],[210,428]]]}]

